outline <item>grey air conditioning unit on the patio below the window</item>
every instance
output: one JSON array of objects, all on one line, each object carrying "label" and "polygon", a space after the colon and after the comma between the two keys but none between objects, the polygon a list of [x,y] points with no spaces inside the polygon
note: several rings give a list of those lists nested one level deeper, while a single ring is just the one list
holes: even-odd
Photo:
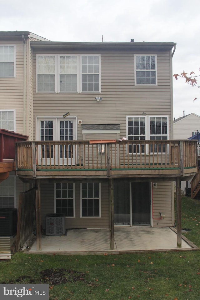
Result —
[{"label": "grey air conditioning unit on the patio below the window", "polygon": [[65,234],[65,214],[47,213],[45,217],[46,235]]}]

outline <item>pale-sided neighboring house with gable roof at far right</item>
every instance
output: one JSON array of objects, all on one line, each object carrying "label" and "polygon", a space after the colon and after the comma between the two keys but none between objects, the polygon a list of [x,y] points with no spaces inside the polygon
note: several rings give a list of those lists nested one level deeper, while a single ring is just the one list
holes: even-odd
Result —
[{"label": "pale-sided neighboring house with gable roof at far right", "polygon": [[[185,115],[183,111],[183,117],[178,119],[174,119],[174,139],[188,139],[195,135],[197,131],[200,131],[200,116],[195,113],[190,113]],[[198,159],[200,158],[200,152],[198,147]],[[192,179],[191,179],[192,180]],[[191,188],[191,180],[190,181],[182,181],[181,182],[181,190],[182,193],[185,194],[186,188]]]}]

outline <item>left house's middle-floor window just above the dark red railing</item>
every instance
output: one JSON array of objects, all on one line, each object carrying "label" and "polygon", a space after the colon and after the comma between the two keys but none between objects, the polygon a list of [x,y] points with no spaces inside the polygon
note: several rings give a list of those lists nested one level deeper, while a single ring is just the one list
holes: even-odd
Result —
[{"label": "left house's middle-floor window just above the dark red railing", "polygon": [[0,128],[15,131],[14,110],[0,110]]}]

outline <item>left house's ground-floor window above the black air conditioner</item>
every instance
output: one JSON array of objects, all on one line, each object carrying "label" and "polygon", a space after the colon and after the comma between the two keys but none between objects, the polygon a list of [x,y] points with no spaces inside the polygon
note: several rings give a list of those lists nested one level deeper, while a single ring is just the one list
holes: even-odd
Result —
[{"label": "left house's ground-floor window above the black air conditioner", "polygon": [[15,208],[16,177],[9,176],[0,183],[0,207]]}]

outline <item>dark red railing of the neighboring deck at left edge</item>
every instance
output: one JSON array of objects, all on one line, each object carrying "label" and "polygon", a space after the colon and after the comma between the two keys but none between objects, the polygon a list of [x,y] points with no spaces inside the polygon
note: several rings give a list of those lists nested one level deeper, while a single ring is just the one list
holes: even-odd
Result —
[{"label": "dark red railing of the neighboring deck at left edge", "polygon": [[26,141],[28,136],[0,129],[0,163],[4,159],[15,160],[15,142]]}]

